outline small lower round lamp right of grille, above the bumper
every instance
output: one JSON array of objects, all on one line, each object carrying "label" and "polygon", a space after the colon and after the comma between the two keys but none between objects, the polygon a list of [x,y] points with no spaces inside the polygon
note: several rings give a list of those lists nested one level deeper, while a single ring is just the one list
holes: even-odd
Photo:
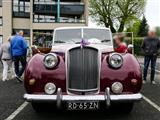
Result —
[{"label": "small lower round lamp right of grille, above the bumper", "polygon": [[120,94],[123,91],[123,85],[120,82],[115,82],[112,84],[113,93]]}]

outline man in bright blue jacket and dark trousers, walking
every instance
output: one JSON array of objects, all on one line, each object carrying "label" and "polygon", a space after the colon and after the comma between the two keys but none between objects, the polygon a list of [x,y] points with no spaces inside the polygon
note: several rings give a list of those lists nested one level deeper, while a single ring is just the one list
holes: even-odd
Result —
[{"label": "man in bright blue jacket and dark trousers, walking", "polygon": [[[22,82],[21,76],[26,68],[27,43],[23,38],[24,32],[19,31],[11,40],[11,55],[14,61],[16,79]],[[21,63],[21,68],[20,68]]]}]

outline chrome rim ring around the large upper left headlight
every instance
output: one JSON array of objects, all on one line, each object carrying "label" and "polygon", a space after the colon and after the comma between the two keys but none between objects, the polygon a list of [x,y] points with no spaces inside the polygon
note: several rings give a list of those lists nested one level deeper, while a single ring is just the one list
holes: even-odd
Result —
[{"label": "chrome rim ring around the large upper left headlight", "polygon": [[[53,65],[49,66],[49,65],[47,64],[47,61],[46,61],[47,57],[53,57],[53,58],[52,58],[52,59],[54,59],[54,64],[53,64]],[[58,56],[57,56],[55,53],[49,53],[49,54],[47,54],[47,55],[44,57],[44,59],[43,59],[43,64],[44,64],[44,66],[45,66],[47,69],[53,69],[53,68],[55,68],[55,67],[58,65],[58,63],[59,63],[59,59],[58,59]]]}]

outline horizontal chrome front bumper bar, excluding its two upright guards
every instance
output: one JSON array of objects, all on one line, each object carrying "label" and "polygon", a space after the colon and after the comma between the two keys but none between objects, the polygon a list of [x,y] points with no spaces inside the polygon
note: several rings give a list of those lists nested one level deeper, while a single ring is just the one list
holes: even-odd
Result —
[{"label": "horizontal chrome front bumper bar, excluding its two upright guards", "polygon": [[[109,99],[106,95],[62,95],[62,101],[105,101]],[[24,99],[28,102],[32,101],[57,101],[57,95],[35,95],[25,94]],[[140,93],[126,94],[126,95],[110,95],[110,101],[139,101],[142,99]]]}]

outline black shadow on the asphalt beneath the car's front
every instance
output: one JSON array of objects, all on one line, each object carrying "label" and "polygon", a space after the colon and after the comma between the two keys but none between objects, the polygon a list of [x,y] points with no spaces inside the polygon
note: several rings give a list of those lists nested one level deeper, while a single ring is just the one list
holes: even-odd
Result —
[{"label": "black shadow on the asphalt beneath the car's front", "polygon": [[[133,109],[134,111],[134,109]],[[99,110],[99,111],[44,111],[43,113],[37,113],[34,111],[39,120],[124,120],[132,117],[131,113],[123,113],[121,110],[114,111],[111,109]]]}]

